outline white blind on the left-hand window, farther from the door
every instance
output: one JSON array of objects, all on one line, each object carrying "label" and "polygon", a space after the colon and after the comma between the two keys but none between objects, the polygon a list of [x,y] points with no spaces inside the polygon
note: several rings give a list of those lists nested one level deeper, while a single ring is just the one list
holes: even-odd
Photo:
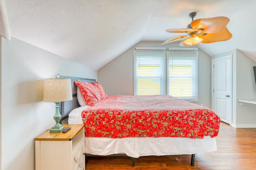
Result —
[{"label": "white blind on the left-hand window, farther from the door", "polygon": [[165,50],[135,51],[135,95],[164,94]]}]

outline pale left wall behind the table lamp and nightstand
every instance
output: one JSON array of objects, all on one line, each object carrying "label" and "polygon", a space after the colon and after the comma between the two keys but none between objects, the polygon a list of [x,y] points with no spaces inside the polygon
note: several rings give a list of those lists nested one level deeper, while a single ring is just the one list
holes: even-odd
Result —
[{"label": "pale left wall behind the table lamp and nightstand", "polygon": [[97,71],[15,38],[1,42],[1,170],[34,170],[34,137],[55,123],[54,103],[42,102],[43,80],[97,78]]}]

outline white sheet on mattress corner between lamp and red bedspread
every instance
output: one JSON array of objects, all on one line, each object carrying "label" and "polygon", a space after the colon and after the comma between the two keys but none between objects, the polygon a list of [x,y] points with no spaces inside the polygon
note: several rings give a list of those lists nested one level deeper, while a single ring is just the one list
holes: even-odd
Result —
[{"label": "white sheet on mattress corner between lamp and red bedspread", "polygon": [[68,115],[68,124],[83,124],[81,113],[88,107],[88,105],[81,106],[70,111]]}]

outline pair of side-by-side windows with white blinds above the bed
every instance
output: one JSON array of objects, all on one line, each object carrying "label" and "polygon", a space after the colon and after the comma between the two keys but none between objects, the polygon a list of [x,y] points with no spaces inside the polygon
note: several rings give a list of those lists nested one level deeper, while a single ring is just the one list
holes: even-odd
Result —
[{"label": "pair of side-by-side windows with white blinds above the bed", "polygon": [[136,48],[134,94],[168,94],[183,100],[197,101],[197,58],[197,48],[170,48],[168,51],[163,48]]}]

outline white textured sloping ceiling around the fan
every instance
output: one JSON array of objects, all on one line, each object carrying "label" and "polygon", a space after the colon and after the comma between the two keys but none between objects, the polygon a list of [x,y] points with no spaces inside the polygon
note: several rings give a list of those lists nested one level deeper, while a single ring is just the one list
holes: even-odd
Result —
[{"label": "white textured sloping ceiling around the fan", "polygon": [[[0,0],[0,2],[3,0]],[[99,69],[139,41],[180,35],[195,19],[226,16],[228,41],[198,47],[209,55],[239,49],[256,60],[255,0],[4,0],[11,37]],[[1,27],[0,27],[1,30]]]}]

